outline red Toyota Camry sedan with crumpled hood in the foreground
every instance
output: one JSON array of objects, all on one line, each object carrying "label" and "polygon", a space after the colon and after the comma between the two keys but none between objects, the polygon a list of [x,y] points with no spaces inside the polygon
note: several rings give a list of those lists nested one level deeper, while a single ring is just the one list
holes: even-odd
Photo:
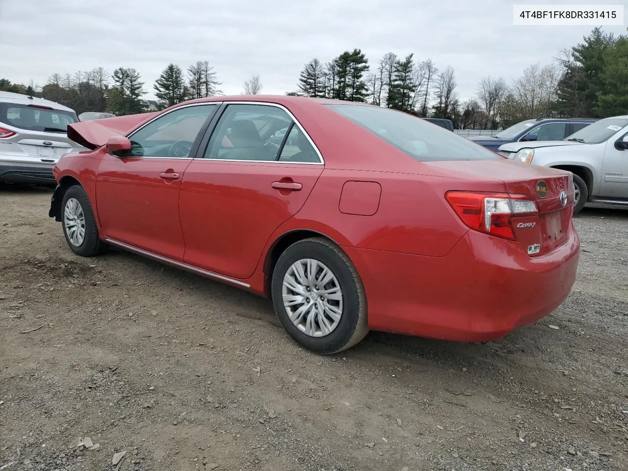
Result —
[{"label": "red Toyota Camry sedan with crumpled hood in the foreground", "polygon": [[121,247],[273,300],[330,354],[369,329],[499,338],[565,300],[580,242],[568,171],[409,114],[215,97],[70,125],[50,216],[80,256]]}]

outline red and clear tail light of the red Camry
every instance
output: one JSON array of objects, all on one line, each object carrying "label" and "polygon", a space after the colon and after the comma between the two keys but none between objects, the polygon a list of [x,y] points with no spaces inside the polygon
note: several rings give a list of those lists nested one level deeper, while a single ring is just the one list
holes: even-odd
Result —
[{"label": "red and clear tail light of the red Camry", "polygon": [[526,195],[447,192],[447,202],[471,229],[514,241],[511,217],[538,215],[536,203]]}]

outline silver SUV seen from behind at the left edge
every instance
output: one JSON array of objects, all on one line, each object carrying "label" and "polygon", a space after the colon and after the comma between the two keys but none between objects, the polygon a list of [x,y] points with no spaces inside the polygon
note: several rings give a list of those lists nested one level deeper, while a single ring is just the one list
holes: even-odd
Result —
[{"label": "silver SUV seen from behind at the left edge", "polygon": [[73,109],[42,98],[0,92],[0,183],[55,185],[63,154],[87,150],[68,139]]}]

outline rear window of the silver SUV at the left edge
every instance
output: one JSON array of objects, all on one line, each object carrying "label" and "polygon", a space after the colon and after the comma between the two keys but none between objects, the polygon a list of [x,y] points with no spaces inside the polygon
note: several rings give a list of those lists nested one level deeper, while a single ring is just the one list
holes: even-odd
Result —
[{"label": "rear window of the silver SUV at the left edge", "polygon": [[68,124],[78,122],[78,117],[72,111],[0,103],[0,122],[26,131],[67,133]]}]

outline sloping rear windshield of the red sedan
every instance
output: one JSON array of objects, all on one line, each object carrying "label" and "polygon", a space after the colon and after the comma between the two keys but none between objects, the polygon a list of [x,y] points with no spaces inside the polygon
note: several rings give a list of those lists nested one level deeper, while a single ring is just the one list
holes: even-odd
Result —
[{"label": "sloping rear windshield of the red sedan", "polygon": [[502,159],[479,144],[408,113],[374,106],[325,106],[422,162]]}]

